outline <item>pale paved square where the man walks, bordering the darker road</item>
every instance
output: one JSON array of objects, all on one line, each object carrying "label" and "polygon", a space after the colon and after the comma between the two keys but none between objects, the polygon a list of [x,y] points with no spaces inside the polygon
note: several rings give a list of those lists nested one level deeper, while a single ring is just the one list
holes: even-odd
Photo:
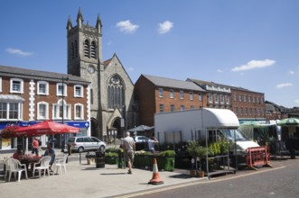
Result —
[{"label": "pale paved square where the man walks, bordering the darker road", "polygon": [[[61,150],[57,150],[57,156],[62,155]],[[4,157],[10,157],[12,154],[0,154],[0,160]],[[83,156],[83,155],[82,155]],[[85,154],[84,154],[85,156]],[[80,163],[81,162],[81,163]],[[273,167],[263,167],[261,171],[275,171],[281,168],[280,160],[273,161]],[[67,164],[67,173],[29,178],[24,177],[20,182],[14,180],[11,182],[0,178],[1,198],[11,197],[33,197],[43,198],[53,197],[137,197],[146,193],[163,191],[165,189],[174,189],[192,184],[201,184],[211,180],[233,179],[236,176],[244,176],[257,172],[255,170],[237,171],[236,174],[220,175],[208,179],[207,177],[191,177],[189,170],[175,169],[173,172],[160,171],[159,178],[164,184],[148,184],[153,178],[154,173],[151,170],[133,168],[133,174],[127,174],[127,168],[118,168],[117,165],[105,165],[97,168],[96,164],[88,165],[85,157],[79,161],[78,155],[69,156]]]}]

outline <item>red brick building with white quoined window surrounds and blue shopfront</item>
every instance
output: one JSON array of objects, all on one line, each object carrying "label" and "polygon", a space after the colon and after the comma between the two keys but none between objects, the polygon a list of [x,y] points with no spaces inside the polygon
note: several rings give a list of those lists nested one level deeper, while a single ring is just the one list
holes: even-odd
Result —
[{"label": "red brick building with white quoined window surrounds and blue shopfront", "polygon": [[[26,126],[37,121],[58,121],[89,130],[89,82],[78,76],[0,66],[0,130],[8,124]],[[43,137],[45,138],[45,137]],[[54,137],[62,141],[61,137]],[[15,148],[20,139],[1,141],[2,149]],[[48,139],[43,139],[42,144]],[[61,142],[56,142],[61,147]]]}]

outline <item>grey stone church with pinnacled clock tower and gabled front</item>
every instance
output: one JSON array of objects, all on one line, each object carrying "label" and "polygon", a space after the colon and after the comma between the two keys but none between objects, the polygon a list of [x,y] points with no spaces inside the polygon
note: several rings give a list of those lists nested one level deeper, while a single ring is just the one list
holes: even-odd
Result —
[{"label": "grey stone church with pinnacled clock tower and gabled front", "polygon": [[[123,130],[134,125],[131,120],[136,119],[130,112],[134,106],[134,85],[116,54],[106,61],[102,59],[102,23],[99,15],[96,25],[90,26],[89,22],[84,23],[79,8],[76,26],[72,25],[69,16],[67,34],[68,74],[91,82],[87,93],[90,135],[103,140],[108,140],[109,135],[116,132],[117,136],[121,136]],[[126,126],[122,124],[124,120]]]}]

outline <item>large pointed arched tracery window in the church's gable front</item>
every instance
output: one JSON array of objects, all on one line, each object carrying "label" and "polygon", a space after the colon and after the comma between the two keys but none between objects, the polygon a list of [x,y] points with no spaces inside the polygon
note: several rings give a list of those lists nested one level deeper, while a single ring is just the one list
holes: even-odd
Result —
[{"label": "large pointed arched tracery window in the church's gable front", "polygon": [[125,103],[125,87],[119,76],[112,76],[108,81],[107,88],[108,108],[114,109],[117,106],[121,109]]}]

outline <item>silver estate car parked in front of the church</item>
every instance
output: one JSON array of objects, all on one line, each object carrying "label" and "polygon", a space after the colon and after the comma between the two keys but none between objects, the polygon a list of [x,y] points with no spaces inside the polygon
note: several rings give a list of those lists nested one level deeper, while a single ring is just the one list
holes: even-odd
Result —
[{"label": "silver estate car parked in front of the church", "polygon": [[67,143],[72,151],[105,150],[106,143],[90,136],[72,137]]}]

